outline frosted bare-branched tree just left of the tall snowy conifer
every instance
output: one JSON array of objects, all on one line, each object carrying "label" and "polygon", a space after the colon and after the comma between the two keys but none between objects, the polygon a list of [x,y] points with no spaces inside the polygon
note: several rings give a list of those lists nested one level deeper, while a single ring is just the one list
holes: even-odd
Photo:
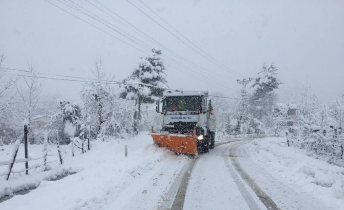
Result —
[{"label": "frosted bare-branched tree just left of the tall snowy conifer", "polygon": [[117,96],[113,76],[102,70],[102,59],[95,60],[91,71],[95,82],[86,83],[81,89],[83,101],[83,124],[90,125],[98,138],[131,134],[133,130],[133,103]]}]

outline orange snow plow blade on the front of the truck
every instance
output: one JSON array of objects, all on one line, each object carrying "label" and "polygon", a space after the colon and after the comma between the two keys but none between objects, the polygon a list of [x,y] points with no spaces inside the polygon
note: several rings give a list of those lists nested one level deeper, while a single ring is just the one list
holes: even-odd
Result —
[{"label": "orange snow plow blade on the front of the truck", "polygon": [[167,147],[174,153],[197,154],[197,141],[194,134],[158,134],[150,133],[154,144]]}]

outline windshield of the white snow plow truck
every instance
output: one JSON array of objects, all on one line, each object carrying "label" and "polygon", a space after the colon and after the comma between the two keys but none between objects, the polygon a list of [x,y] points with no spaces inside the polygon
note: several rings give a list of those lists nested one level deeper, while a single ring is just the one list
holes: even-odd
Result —
[{"label": "windshield of the white snow plow truck", "polygon": [[164,100],[164,110],[170,112],[197,112],[199,110],[202,110],[202,97],[198,95],[166,97]]}]

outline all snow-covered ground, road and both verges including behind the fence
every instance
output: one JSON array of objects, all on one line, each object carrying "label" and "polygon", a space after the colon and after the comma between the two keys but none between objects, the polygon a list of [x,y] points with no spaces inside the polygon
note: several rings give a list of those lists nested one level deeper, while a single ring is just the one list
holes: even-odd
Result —
[{"label": "all snow-covered ground, road and both verges including behind the fence", "polygon": [[[2,195],[38,188],[0,203],[0,209],[170,209],[184,186],[184,209],[259,210],[268,208],[272,199],[281,210],[342,210],[344,168],[309,157],[285,142],[276,137],[252,140],[218,135],[218,146],[196,159],[154,146],[147,133],[94,141],[91,151],[75,157],[65,146],[62,166],[53,163],[48,172],[17,174],[9,181],[1,177]],[[128,145],[127,157],[124,145]],[[42,154],[41,146],[31,147],[33,157]],[[9,155],[8,149],[1,151],[1,158]],[[188,169],[191,163],[193,170]],[[76,173],[47,181],[66,172]],[[190,179],[180,184],[186,172]],[[259,197],[257,190],[268,199]]]}]

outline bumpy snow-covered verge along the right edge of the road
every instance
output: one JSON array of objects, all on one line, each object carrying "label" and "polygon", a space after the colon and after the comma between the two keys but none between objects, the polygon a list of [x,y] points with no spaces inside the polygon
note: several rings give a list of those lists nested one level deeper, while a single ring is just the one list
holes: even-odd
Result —
[{"label": "bumpy snow-covered verge along the right edge of the road", "polygon": [[306,192],[330,203],[344,206],[344,168],[309,157],[304,150],[287,147],[285,137],[256,139],[248,147],[252,160],[295,191]]}]

